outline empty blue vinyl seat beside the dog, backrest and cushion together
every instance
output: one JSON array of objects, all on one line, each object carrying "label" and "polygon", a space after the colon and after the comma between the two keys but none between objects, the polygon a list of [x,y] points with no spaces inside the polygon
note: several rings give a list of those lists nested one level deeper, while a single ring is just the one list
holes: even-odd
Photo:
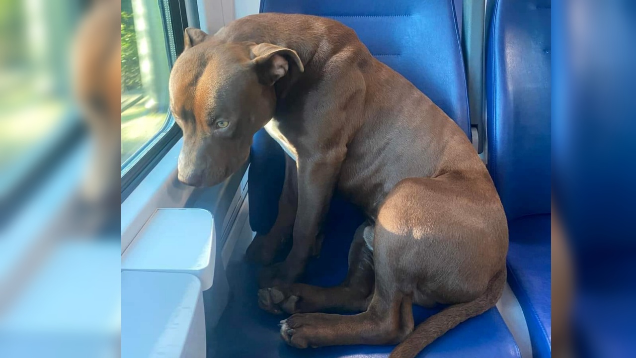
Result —
[{"label": "empty blue vinyl seat beside the dog, backrest and cushion together", "polygon": [[550,0],[497,0],[487,44],[488,169],[509,222],[508,283],[534,357],[551,355]]}]

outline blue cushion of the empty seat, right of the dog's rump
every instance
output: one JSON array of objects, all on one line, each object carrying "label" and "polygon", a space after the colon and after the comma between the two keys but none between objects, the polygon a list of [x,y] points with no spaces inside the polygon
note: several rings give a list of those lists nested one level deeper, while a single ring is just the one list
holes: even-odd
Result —
[{"label": "blue cushion of the empty seat, right of the dog's rump", "polygon": [[551,356],[550,214],[509,222],[508,283],[530,333],[534,357]]}]

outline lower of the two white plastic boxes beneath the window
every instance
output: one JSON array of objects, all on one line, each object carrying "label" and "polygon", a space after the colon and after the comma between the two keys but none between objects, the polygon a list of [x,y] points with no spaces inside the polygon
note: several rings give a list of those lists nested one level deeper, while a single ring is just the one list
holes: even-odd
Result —
[{"label": "lower of the two white plastic boxes beneath the window", "polygon": [[193,275],[121,273],[121,357],[205,357],[201,283]]}]

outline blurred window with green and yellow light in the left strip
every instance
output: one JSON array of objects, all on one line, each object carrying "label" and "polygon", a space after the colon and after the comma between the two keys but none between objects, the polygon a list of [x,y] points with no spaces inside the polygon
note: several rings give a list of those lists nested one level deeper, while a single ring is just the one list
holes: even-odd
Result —
[{"label": "blurred window with green and yellow light in the left strip", "polygon": [[0,3],[0,197],[78,119],[67,62],[83,6],[74,0]]}]

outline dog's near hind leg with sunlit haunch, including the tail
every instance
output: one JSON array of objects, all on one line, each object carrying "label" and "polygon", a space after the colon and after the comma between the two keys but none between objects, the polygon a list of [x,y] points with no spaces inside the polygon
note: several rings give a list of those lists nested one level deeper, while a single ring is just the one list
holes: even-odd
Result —
[{"label": "dog's near hind leg with sunlit haunch, including the tail", "polygon": [[[483,188],[451,179],[408,178],[385,198],[375,220],[368,310],[296,313],[281,322],[282,339],[298,348],[404,341],[391,357],[415,357],[448,329],[493,307],[506,281],[501,203],[483,193],[473,199],[469,190]],[[474,212],[486,216],[479,220]],[[411,305],[422,297],[450,306],[413,331]]]}]

